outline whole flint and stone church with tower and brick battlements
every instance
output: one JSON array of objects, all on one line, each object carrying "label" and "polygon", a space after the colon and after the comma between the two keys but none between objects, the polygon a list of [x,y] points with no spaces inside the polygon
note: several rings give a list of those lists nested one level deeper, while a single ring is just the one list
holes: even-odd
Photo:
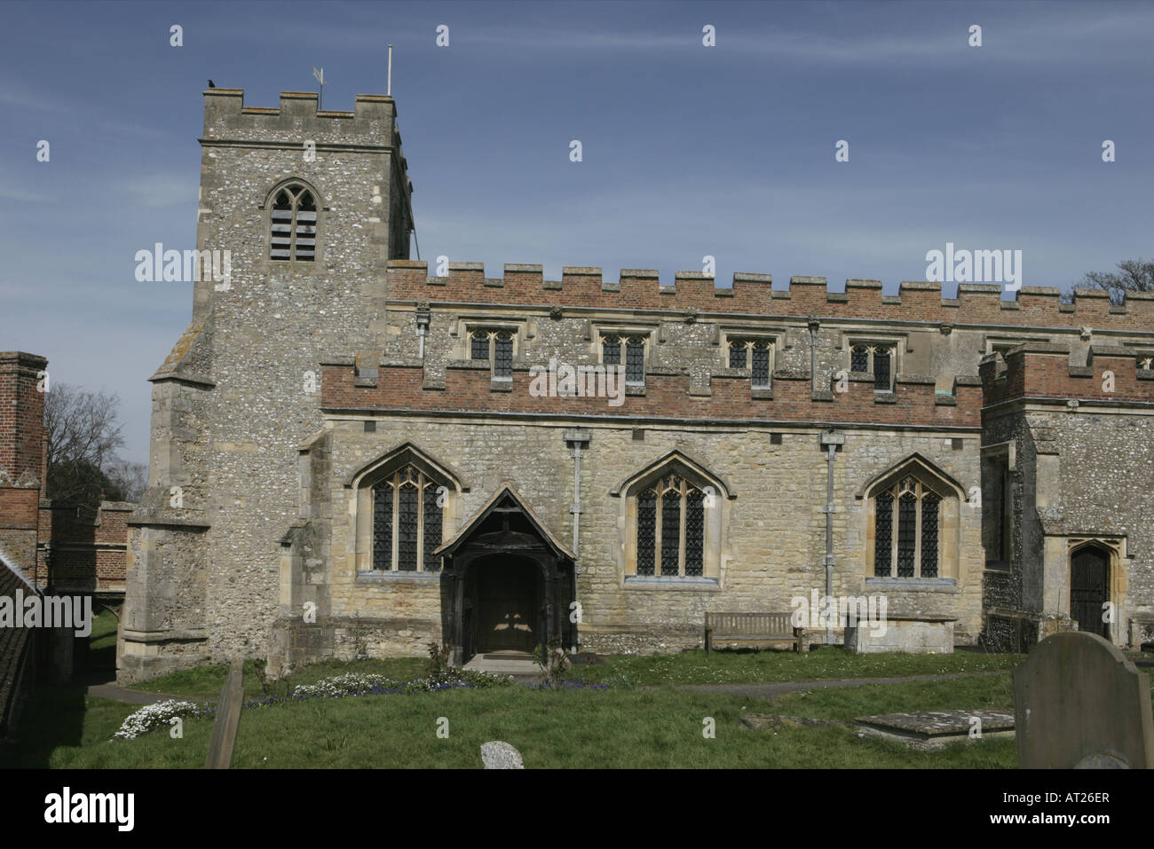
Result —
[{"label": "whole flint and stone church with tower and brick battlements", "polygon": [[890,648],[1151,638],[1154,295],[430,269],[392,98],[317,105],[204,92],[231,263],[151,377],[121,681],[676,652],[815,593],[884,598]]}]

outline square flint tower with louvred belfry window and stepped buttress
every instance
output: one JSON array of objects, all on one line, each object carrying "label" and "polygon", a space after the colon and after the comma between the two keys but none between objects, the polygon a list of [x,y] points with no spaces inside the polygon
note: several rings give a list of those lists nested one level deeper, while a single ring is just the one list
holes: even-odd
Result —
[{"label": "square flint tower with louvred belfry window and stepped buttress", "polygon": [[[121,677],[261,655],[279,540],[298,518],[297,448],[322,426],[320,362],[379,348],[385,264],[413,230],[396,105],[252,108],[204,91],[196,247],[228,251],[151,377],[149,490],[133,518]],[[323,234],[316,239],[316,231]]]}]

